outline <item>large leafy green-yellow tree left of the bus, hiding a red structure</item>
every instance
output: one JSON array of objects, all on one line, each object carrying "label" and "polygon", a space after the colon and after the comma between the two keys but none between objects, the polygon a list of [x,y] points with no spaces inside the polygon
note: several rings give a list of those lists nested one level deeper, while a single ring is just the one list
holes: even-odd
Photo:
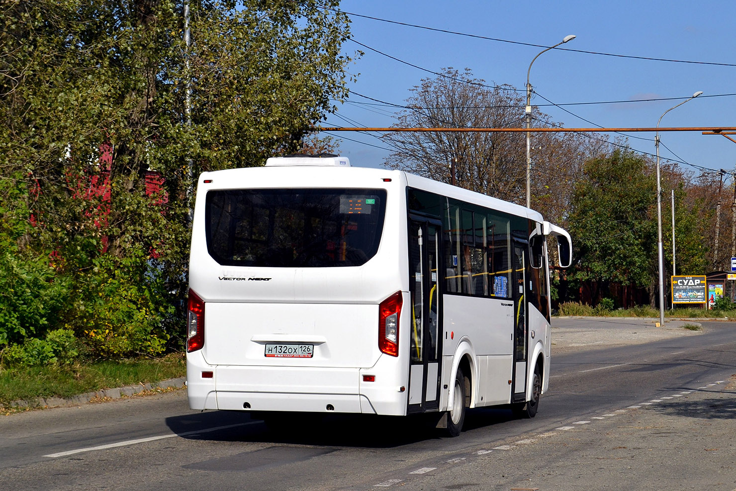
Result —
[{"label": "large leafy green-yellow tree left of the bus, hiding a red structure", "polygon": [[58,322],[89,336],[124,298],[121,322],[180,330],[192,179],[296,150],[346,96],[338,3],[192,1],[190,47],[166,0],[0,3],[0,211],[71,280]]}]

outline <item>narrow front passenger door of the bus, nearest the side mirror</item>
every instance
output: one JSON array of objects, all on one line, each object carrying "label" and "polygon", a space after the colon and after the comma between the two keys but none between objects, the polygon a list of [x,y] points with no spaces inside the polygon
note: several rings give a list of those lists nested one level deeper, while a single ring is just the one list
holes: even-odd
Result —
[{"label": "narrow front passenger door of the bus, nearest the side mirror", "polygon": [[526,400],[527,319],[526,242],[514,239],[512,254],[512,297],[514,299],[514,395],[512,402]]}]

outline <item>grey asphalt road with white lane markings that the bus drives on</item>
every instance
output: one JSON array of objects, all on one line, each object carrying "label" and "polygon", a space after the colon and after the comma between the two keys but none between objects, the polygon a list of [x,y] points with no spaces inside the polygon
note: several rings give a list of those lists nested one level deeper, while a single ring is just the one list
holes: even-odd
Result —
[{"label": "grey asphalt road with white lane markings that the bus drives on", "polygon": [[454,439],[338,415],[272,431],[179,391],[0,418],[0,490],[735,490],[736,322],[654,342],[637,322],[576,322],[554,322],[586,341],[553,347],[532,420],[477,409]]}]

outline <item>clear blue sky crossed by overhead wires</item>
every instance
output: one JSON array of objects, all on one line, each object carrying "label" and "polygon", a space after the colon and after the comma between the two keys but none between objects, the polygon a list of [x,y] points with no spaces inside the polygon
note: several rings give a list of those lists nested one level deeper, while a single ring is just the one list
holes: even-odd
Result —
[{"label": "clear blue sky crossed by overhead wires", "polygon": [[[345,12],[407,24],[446,29],[489,38],[552,46],[566,35],[576,39],[564,48],[736,65],[733,31],[736,2],[701,4],[669,1],[437,1],[344,0]],[[353,39],[431,71],[445,67],[470,68],[477,78],[523,88],[531,60],[542,48],[468,38],[415,27],[388,24],[352,16]],[[403,104],[409,89],[419,85],[426,71],[362,48],[352,41],[344,50],[365,54],[350,66],[359,74],[350,90],[382,101]],[[736,127],[736,66],[711,66],[635,60],[554,49],[542,54],[531,68],[531,85],[556,104],[631,99],[688,97],[703,91],[662,119],[662,127]],[[391,107],[355,104],[370,102],[351,94],[338,104],[326,126],[388,127],[395,122]],[[659,116],[679,100],[563,106],[604,127],[655,127]],[[534,104],[545,104],[539,96]],[[542,107],[565,127],[591,127],[590,123],[558,107]],[[347,118],[350,123],[339,116]],[[378,138],[365,133],[334,133],[343,138],[342,155],[357,166],[381,166],[390,152]],[[654,154],[654,133],[631,133],[632,148]],[[638,138],[634,138],[638,137]],[[352,138],[364,143],[355,143]],[[639,139],[646,138],[646,139]],[[684,160],[708,169],[736,165],[736,143],[720,135],[662,133],[662,144]],[[736,138],[736,137],[735,137]],[[370,146],[375,145],[375,146]],[[662,158],[676,158],[660,146]],[[698,172],[689,166],[682,166]]]}]

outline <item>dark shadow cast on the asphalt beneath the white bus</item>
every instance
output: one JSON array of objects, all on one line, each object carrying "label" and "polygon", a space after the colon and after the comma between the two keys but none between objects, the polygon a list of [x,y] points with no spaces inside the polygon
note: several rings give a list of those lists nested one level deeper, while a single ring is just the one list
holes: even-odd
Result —
[{"label": "dark shadow cast on the asphalt beneath the white bus", "polygon": [[[436,414],[436,413],[434,413]],[[186,439],[222,442],[263,442],[347,448],[394,448],[445,438],[435,428],[436,417],[375,416],[372,414],[268,414],[265,421],[241,411],[203,411],[166,418],[171,431]],[[464,430],[513,420],[504,409],[467,411]],[[211,431],[212,428],[220,428]],[[201,431],[201,433],[199,433]]]}]

